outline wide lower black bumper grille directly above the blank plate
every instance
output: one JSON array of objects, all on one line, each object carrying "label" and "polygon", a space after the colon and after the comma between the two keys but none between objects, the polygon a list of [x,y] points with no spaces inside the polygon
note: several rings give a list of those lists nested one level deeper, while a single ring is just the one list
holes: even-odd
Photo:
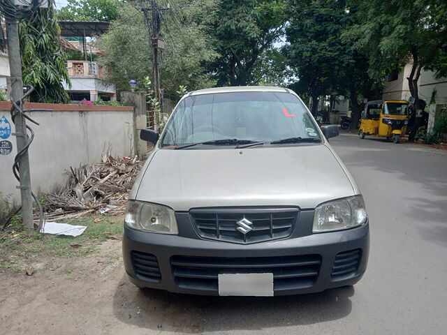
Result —
[{"label": "wide lower black bumper grille directly above the blank plate", "polygon": [[274,290],[295,290],[314,285],[321,267],[320,255],[255,258],[173,256],[175,282],[180,288],[218,292],[219,274],[272,273]]}]

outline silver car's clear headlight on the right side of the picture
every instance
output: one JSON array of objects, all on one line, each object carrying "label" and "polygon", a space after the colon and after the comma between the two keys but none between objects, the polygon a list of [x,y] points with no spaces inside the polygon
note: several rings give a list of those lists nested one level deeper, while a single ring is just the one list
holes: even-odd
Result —
[{"label": "silver car's clear headlight on the right side of the picture", "polygon": [[367,219],[361,195],[320,204],[315,209],[312,232],[328,232],[358,227]]}]

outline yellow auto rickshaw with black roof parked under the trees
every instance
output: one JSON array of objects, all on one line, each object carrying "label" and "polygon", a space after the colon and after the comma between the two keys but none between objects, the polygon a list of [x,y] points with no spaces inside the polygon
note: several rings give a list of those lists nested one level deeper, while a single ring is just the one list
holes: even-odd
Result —
[{"label": "yellow auto rickshaw with black roof parked under the trees", "polygon": [[399,143],[408,126],[408,107],[407,101],[369,101],[362,112],[360,138],[365,138],[365,135],[379,135]]}]

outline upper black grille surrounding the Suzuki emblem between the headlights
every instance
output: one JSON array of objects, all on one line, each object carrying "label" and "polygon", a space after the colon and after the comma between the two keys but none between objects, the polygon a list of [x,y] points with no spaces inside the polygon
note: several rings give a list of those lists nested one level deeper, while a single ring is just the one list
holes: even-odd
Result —
[{"label": "upper black grille surrounding the Suzuki emblem between the headlights", "polygon": [[[200,237],[233,243],[255,243],[288,237],[298,218],[297,208],[280,209],[191,209],[189,212]],[[237,230],[246,219],[251,231]],[[247,221],[246,221],[247,222]]]}]

